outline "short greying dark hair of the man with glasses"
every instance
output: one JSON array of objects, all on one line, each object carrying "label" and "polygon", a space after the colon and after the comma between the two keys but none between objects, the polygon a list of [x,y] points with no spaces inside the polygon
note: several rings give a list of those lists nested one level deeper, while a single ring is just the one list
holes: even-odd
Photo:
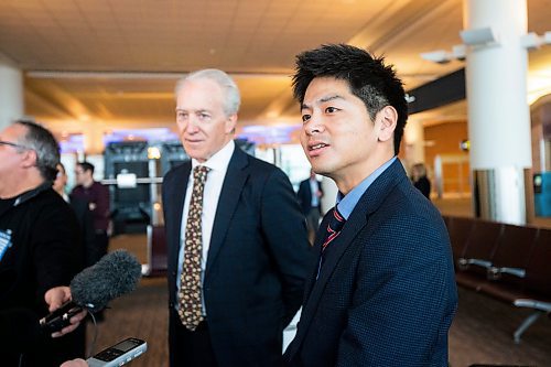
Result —
[{"label": "short greying dark hair of the man with glasses", "polygon": [[56,165],[60,163],[60,145],[52,132],[28,120],[17,120],[15,123],[26,129],[20,142],[36,152],[36,168],[41,176],[46,181],[54,181],[57,174]]}]

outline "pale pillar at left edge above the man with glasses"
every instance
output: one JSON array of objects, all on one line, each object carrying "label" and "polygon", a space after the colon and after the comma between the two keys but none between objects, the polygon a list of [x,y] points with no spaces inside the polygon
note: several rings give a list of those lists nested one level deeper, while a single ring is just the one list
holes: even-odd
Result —
[{"label": "pale pillar at left edge above the man with glasses", "polygon": [[0,130],[23,114],[23,73],[0,55]]}]

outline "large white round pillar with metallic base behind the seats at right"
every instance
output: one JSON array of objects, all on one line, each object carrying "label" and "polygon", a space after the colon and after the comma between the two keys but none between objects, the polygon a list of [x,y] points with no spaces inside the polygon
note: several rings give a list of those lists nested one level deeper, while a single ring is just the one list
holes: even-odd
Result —
[{"label": "large white round pillar with metallic base behind the seats at right", "polygon": [[[467,48],[471,166],[478,215],[526,223],[525,170],[531,166],[527,101],[526,0],[464,0],[464,29],[491,28],[497,43]],[[478,180],[477,180],[478,179]]]}]

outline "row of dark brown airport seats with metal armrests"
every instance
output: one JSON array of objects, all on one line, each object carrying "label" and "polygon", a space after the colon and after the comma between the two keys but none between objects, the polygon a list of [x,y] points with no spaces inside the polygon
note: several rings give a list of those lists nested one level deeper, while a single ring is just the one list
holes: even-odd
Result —
[{"label": "row of dark brown airport seats with metal armrests", "polygon": [[541,315],[551,314],[551,229],[444,216],[457,284],[533,311],[515,343]]}]

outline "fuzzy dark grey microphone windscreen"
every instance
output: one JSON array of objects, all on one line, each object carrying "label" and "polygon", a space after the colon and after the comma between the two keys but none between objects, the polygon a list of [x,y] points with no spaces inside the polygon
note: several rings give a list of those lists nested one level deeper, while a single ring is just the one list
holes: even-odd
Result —
[{"label": "fuzzy dark grey microphone windscreen", "polygon": [[133,255],[125,250],[110,252],[73,278],[73,302],[99,311],[111,300],[133,291],[140,278],[141,265]]}]

